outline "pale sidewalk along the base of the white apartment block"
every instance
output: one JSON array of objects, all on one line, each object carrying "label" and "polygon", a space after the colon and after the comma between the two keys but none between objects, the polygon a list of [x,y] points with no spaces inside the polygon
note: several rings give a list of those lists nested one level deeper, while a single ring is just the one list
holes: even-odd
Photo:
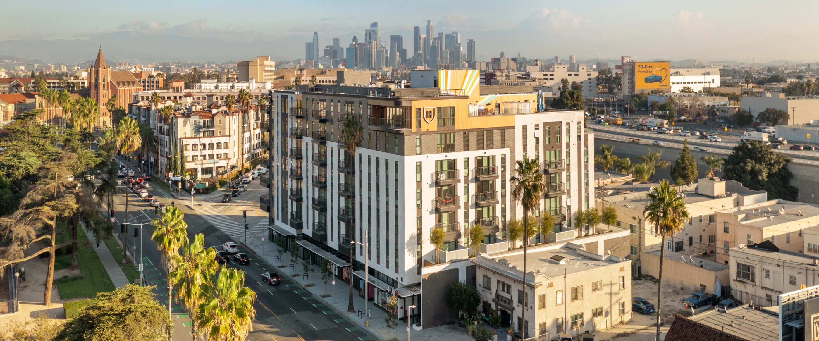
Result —
[{"label": "pale sidewalk along the base of the white apartment block", "polygon": [[[291,279],[298,284],[301,289],[313,294],[328,307],[332,307],[339,315],[347,316],[347,321],[351,321],[356,327],[366,330],[374,338],[381,341],[393,338],[397,340],[407,339],[406,322],[398,321],[398,326],[396,326],[395,330],[388,329],[387,322],[384,321],[387,318],[387,311],[375,307],[372,301],[367,304],[370,313],[369,327],[365,325],[364,318],[359,317],[358,313],[348,314],[346,310],[350,298],[350,284],[346,284],[344,281],[333,276],[333,278],[328,280],[325,292],[325,284],[324,280],[321,280],[319,266],[310,265],[308,278],[302,276],[304,275],[304,269],[300,261],[295,263],[293,271],[288,271],[288,267],[279,269],[278,266],[287,266],[294,263],[290,261],[290,254],[287,252],[282,255],[281,261],[274,261],[274,257],[278,255],[276,251],[278,247],[276,244],[270,243],[269,240],[262,241],[261,239],[265,236],[266,234],[248,235],[246,245],[256,252],[256,257],[274,266],[275,271],[277,271],[279,275]],[[336,280],[336,285],[331,284],[333,280]],[[324,297],[327,295],[330,296]],[[353,292],[353,304],[355,310],[364,307],[364,298],[359,296],[358,290],[354,290]],[[423,330],[413,329],[411,331],[411,339],[424,341],[474,341],[474,339],[467,334],[467,330],[458,325],[440,325],[434,328],[424,328]]]}]

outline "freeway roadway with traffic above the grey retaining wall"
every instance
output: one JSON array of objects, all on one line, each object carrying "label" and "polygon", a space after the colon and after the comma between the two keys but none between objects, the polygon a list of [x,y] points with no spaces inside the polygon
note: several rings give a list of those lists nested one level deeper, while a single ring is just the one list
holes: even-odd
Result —
[{"label": "freeway roadway with traffic above the grey retaining wall", "polygon": [[[703,148],[702,152],[713,152],[716,154],[727,155],[731,153],[731,148],[734,148],[740,143],[740,139],[734,136],[720,136],[722,142],[709,142],[708,140],[698,139],[699,136],[680,136],[678,134],[658,134],[649,131],[637,131],[622,128],[616,125],[598,125],[592,121],[586,122],[595,130],[595,139],[611,139],[618,141],[628,141],[631,138],[640,139],[640,143],[650,144],[653,141],[662,142],[664,146],[682,148],[683,140],[687,139],[691,148]],[[803,163],[806,165],[819,165],[819,151],[799,151],[790,150],[790,144],[785,144],[776,152],[784,153],[791,157],[796,163]]]}]

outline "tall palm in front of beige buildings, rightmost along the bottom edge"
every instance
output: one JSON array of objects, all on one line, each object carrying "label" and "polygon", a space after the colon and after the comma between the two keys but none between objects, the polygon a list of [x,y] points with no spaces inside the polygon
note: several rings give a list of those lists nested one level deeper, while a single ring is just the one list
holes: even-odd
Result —
[{"label": "tall palm in front of beige buildings, rightmost along the bottom edge", "polygon": [[663,304],[663,258],[665,257],[665,237],[673,238],[679,233],[688,219],[686,199],[681,197],[676,189],[668,184],[668,180],[660,182],[654,191],[649,192],[649,204],[645,206],[643,214],[645,220],[654,224],[660,233],[660,272],[657,286],[657,339],[660,337],[660,307]]}]

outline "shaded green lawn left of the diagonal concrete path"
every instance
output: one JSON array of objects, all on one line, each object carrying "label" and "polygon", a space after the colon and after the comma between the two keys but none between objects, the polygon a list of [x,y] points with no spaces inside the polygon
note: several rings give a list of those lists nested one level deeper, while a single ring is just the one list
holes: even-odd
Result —
[{"label": "shaded green lawn left of the diagonal concrete path", "polygon": [[[79,271],[83,273],[83,280],[75,280],[57,284],[61,299],[97,297],[97,293],[105,293],[115,289],[111,277],[105,271],[105,266],[97,257],[93,243],[88,243],[88,237],[83,230],[77,233],[77,262]],[[57,256],[55,269],[65,269],[71,265],[71,255]]]}]

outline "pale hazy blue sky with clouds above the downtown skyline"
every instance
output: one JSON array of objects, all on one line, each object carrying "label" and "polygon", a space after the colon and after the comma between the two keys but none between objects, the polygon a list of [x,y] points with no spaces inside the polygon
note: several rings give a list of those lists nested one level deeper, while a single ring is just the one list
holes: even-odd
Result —
[{"label": "pale hazy blue sky with clouds above the downtown skyline", "polygon": [[[598,54],[601,59],[672,61],[819,60],[815,0],[2,0],[0,5],[7,13],[20,14],[0,20],[0,55],[27,58],[40,53],[58,59],[53,48],[44,48],[54,42],[116,45],[117,39],[124,43],[138,35],[138,42],[149,46],[130,48],[151,50],[152,41],[161,39],[201,46],[197,54],[177,53],[180,61],[252,57],[215,51],[225,47],[292,60],[304,58],[304,43],[314,31],[321,46],[341,38],[346,47],[353,35],[362,39],[373,21],[381,23],[382,40],[402,34],[411,51],[413,26],[425,34],[427,20],[432,20],[436,34],[457,30],[464,46],[467,39],[475,39],[482,60],[498,57],[500,51],[528,58],[573,54],[578,60]],[[106,57],[128,57],[131,51],[111,48],[114,56]],[[159,48],[167,46],[157,44]],[[90,59],[96,51],[87,54]],[[161,52],[143,55],[152,56],[167,57]]]}]

